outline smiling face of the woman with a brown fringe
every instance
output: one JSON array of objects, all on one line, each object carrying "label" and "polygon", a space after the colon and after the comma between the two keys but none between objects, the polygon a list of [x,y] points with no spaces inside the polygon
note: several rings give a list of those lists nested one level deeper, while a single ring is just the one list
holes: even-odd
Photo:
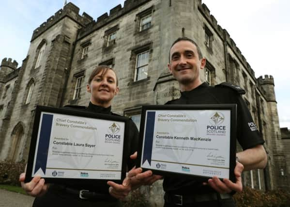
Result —
[{"label": "smiling face of the woman with a brown fringe", "polygon": [[87,91],[91,93],[91,102],[95,105],[109,107],[111,100],[118,94],[117,77],[114,71],[108,69],[102,76],[100,71],[95,75],[90,84],[87,85]]}]

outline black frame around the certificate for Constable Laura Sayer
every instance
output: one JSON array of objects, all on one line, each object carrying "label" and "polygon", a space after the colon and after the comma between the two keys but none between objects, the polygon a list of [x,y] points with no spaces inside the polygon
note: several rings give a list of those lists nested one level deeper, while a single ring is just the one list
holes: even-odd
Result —
[{"label": "black frame around the certificate for Constable Laura Sayer", "polygon": [[[36,144],[37,144],[37,137],[40,130],[40,119],[42,113],[54,113],[54,114],[64,114],[64,115],[71,115],[71,116],[77,116],[77,117],[86,117],[86,118],[93,118],[97,120],[107,120],[107,121],[116,121],[116,122],[122,122],[124,123],[124,141],[122,146],[122,172],[121,172],[121,179],[114,179],[110,177],[105,177],[104,179],[94,179],[94,178],[67,178],[67,177],[54,177],[46,176],[45,181],[46,183],[57,183],[57,184],[69,184],[74,183],[76,185],[107,185],[107,181],[114,181],[116,183],[122,183],[122,180],[126,176],[126,167],[127,167],[127,158],[128,155],[128,142],[127,135],[128,135],[128,121],[129,118],[126,118],[124,116],[116,116],[116,115],[109,115],[109,114],[102,114],[102,113],[92,113],[87,111],[80,111],[76,109],[68,109],[68,108],[52,108],[52,107],[46,107],[46,106],[36,106],[35,109],[35,117],[34,117],[34,124],[32,128],[32,135],[31,135],[31,144],[30,144],[30,150],[29,150],[29,157],[27,162],[27,170],[26,170],[26,176],[25,176],[25,182],[30,182],[31,179],[34,177],[32,176],[32,170],[33,169],[33,163],[35,157],[37,156],[36,152]],[[69,129],[68,129],[69,130]],[[65,133],[65,131],[63,132]],[[50,135],[51,136],[51,135]],[[107,150],[110,150],[109,148]],[[120,152],[121,153],[121,152]],[[48,154],[48,149],[44,154]],[[47,161],[47,160],[46,160]]]}]

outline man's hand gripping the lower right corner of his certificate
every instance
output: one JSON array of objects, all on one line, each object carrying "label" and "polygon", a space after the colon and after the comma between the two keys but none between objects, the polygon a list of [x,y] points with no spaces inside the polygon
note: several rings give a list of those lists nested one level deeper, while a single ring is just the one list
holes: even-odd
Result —
[{"label": "man's hand gripping the lower right corner of his certificate", "polygon": [[236,176],[236,183],[231,182],[229,179],[224,178],[222,182],[218,177],[214,176],[212,179],[208,180],[208,185],[210,185],[215,191],[219,193],[229,193],[231,191],[241,192],[243,190],[242,184],[242,172],[244,170],[244,165],[240,162],[236,162],[236,167],[234,169],[234,174]]}]

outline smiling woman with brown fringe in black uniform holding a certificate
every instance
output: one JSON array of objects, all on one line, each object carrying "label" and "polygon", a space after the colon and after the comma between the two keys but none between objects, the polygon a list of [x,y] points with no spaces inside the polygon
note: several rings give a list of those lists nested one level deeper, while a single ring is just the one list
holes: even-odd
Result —
[{"label": "smiling woman with brown fringe in black uniform holding a certificate", "polygon": [[[119,92],[118,79],[112,68],[105,65],[97,66],[92,71],[89,78],[87,92],[91,93],[88,107],[66,106],[65,108],[117,115],[111,112],[112,99]],[[126,152],[125,157],[128,158],[128,168],[131,169],[134,166],[134,162],[129,156],[137,151],[138,142],[138,130],[131,119],[129,121],[129,129],[129,142],[125,144],[128,144],[128,149],[130,151]],[[136,172],[140,173],[141,171],[139,170]],[[130,177],[134,175],[136,174],[129,174]],[[128,176],[125,178],[122,185],[108,181],[98,186],[76,185],[75,183],[67,185],[48,185],[45,184],[44,178],[39,176],[35,176],[29,183],[24,183],[24,179],[25,174],[21,174],[19,180],[21,181],[22,188],[27,191],[28,194],[36,196],[33,207],[118,207],[120,203],[116,198],[123,198],[131,190],[131,179],[128,179]],[[81,190],[86,190],[85,193],[82,194],[82,197],[86,197],[85,199],[79,197]]]}]

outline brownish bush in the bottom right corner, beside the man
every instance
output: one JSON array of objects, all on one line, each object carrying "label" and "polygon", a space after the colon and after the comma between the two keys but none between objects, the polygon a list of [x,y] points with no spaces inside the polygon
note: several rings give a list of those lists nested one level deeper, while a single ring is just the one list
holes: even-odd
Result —
[{"label": "brownish bush in the bottom right corner, beside the man", "polygon": [[262,192],[244,187],[234,198],[237,207],[290,207],[290,192],[282,190]]}]

